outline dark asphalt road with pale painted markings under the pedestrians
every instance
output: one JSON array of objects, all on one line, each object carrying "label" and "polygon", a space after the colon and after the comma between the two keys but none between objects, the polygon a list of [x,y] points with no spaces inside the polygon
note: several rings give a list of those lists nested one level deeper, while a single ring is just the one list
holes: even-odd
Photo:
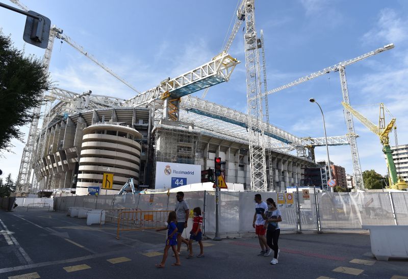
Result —
[{"label": "dark asphalt road with pale painted markings under the pedestrians", "polygon": [[21,207],[0,219],[0,278],[408,278],[408,261],[376,261],[363,234],[283,234],[277,265],[257,257],[257,238],[205,240],[204,258],[185,259],[184,251],[182,266],[170,256],[158,269],[164,232],[127,231],[117,240],[112,224]]}]

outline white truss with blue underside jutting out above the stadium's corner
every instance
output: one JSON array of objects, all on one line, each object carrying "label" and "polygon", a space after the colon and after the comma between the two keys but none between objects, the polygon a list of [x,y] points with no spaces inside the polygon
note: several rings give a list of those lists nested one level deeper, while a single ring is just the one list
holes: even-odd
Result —
[{"label": "white truss with blue underside jutting out above the stadium's corner", "polygon": [[214,57],[212,61],[184,75],[162,81],[159,86],[127,100],[124,106],[137,107],[148,105],[158,100],[165,93],[170,94],[174,98],[180,98],[198,90],[228,81],[235,66],[239,63],[240,61],[230,55],[221,54]]}]

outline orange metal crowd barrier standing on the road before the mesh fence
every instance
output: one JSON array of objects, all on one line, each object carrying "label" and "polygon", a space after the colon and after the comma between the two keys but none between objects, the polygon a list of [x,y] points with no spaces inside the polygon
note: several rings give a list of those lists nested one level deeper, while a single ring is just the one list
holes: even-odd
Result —
[{"label": "orange metal crowd barrier standing on the road before the mesh fence", "polygon": [[156,229],[166,226],[171,211],[120,211],[117,220],[116,239],[124,230]]}]

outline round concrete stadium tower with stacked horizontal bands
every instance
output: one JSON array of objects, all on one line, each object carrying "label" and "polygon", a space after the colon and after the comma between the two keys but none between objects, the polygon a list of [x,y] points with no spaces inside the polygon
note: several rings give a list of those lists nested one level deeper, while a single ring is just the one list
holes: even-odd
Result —
[{"label": "round concrete stadium tower with stacked horizontal bands", "polygon": [[137,183],[140,171],[142,134],[130,127],[114,124],[95,124],[83,130],[77,182],[77,195],[87,195],[89,186],[102,186],[103,174],[113,174],[116,194],[133,177]]}]

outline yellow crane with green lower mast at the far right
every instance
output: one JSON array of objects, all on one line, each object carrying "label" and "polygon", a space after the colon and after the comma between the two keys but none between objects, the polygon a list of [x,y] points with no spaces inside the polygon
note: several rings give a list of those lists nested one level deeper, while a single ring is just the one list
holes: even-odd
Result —
[{"label": "yellow crane with green lower mast at the far right", "polygon": [[384,104],[379,104],[379,120],[378,126],[372,123],[370,120],[365,118],[360,112],[353,109],[349,104],[342,102],[342,105],[347,111],[350,111],[356,119],[358,119],[364,126],[366,126],[371,132],[379,137],[382,144],[382,152],[384,152],[387,162],[387,168],[389,172],[390,187],[392,189],[404,190],[407,188],[406,182],[397,177],[397,170],[395,169],[394,160],[392,158],[392,151],[390,147],[389,134],[395,126],[396,119],[391,119],[390,123],[386,125],[385,114],[384,114]]}]

